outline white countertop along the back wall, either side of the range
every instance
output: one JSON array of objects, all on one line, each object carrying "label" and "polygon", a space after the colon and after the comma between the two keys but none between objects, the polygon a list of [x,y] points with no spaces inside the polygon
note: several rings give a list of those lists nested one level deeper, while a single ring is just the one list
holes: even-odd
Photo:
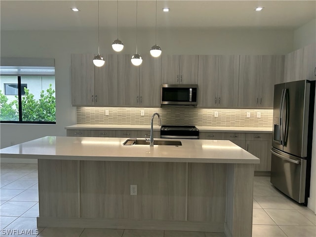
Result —
[{"label": "white countertop along the back wall, either side of the range", "polygon": [[[200,132],[259,132],[272,133],[272,127],[215,127],[196,126]],[[108,125],[108,124],[75,124],[65,129],[83,130],[150,130],[150,125]],[[154,131],[160,131],[160,126],[154,125]]]}]

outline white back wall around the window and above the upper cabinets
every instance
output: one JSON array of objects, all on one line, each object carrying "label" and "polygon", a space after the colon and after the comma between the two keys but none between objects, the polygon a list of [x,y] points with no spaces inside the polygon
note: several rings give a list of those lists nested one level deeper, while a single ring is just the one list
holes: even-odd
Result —
[{"label": "white back wall around the window and above the upper cabinets", "polygon": [[[101,54],[114,53],[111,44],[117,38],[116,34],[116,29],[101,30]],[[135,53],[134,29],[120,29],[119,39],[125,45],[122,53]],[[151,46],[155,44],[155,31],[139,29],[138,39],[138,52],[149,53]],[[292,50],[293,32],[170,29],[158,30],[157,43],[164,54],[285,54]],[[76,123],[76,108],[71,105],[71,53],[97,53],[97,32],[1,31],[0,46],[2,57],[55,58],[56,77],[56,125],[1,124],[0,147],[4,148],[47,135],[65,136],[64,127]]]}]

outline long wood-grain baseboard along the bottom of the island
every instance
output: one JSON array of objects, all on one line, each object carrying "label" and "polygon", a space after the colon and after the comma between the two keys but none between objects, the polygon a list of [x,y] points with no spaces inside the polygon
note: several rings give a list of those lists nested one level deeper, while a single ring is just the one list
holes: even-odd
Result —
[{"label": "long wood-grain baseboard along the bottom of the island", "polygon": [[167,230],[224,233],[224,223],[101,218],[38,217],[38,227]]}]

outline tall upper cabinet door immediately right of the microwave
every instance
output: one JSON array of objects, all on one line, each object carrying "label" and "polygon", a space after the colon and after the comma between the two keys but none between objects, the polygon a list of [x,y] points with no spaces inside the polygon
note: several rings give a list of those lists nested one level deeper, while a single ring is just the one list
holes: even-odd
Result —
[{"label": "tall upper cabinet door immediately right of the microwave", "polygon": [[198,107],[217,106],[218,55],[198,56]]}]

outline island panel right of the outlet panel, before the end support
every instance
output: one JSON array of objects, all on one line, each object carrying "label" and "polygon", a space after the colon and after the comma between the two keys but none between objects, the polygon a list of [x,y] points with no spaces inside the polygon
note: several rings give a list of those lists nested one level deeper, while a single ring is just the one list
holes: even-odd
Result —
[{"label": "island panel right of the outlet panel, before the end support", "polygon": [[224,232],[227,164],[189,163],[188,221],[218,223]]}]

